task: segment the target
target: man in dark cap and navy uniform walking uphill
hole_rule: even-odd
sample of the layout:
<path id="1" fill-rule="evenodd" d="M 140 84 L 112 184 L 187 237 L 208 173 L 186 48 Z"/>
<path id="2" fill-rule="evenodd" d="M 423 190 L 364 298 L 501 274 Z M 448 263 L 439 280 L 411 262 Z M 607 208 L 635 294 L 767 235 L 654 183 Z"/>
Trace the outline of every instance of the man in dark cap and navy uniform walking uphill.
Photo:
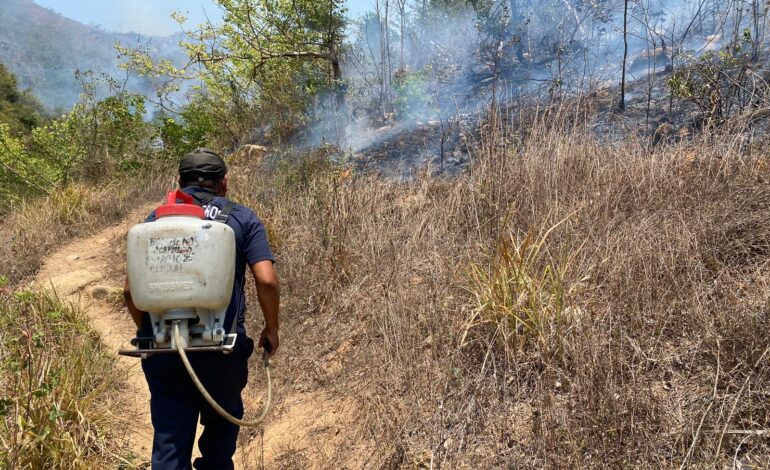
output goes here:
<path id="1" fill-rule="evenodd" d="M 179 163 L 179 186 L 204 208 L 206 218 L 226 223 L 235 232 L 235 281 L 224 328 L 235 327 L 238 339 L 232 354 L 196 352 L 190 362 L 204 387 L 228 413 L 243 417 L 241 391 L 248 380 L 248 358 L 254 341 L 246 335 L 246 268 L 257 286 L 265 328 L 259 338 L 272 356 L 278 350 L 279 287 L 265 227 L 253 211 L 228 200 L 227 166 L 215 152 L 199 148 Z M 155 212 L 147 222 L 155 220 Z M 139 311 L 131 299 L 128 282 L 124 291 L 126 306 L 139 328 L 139 337 L 152 336 L 149 315 Z M 155 354 L 142 360 L 150 388 L 150 411 L 154 428 L 153 470 L 190 469 L 198 419 L 203 433 L 198 440 L 201 457 L 196 469 L 232 469 L 239 427 L 222 418 L 198 392 L 177 354 Z"/>

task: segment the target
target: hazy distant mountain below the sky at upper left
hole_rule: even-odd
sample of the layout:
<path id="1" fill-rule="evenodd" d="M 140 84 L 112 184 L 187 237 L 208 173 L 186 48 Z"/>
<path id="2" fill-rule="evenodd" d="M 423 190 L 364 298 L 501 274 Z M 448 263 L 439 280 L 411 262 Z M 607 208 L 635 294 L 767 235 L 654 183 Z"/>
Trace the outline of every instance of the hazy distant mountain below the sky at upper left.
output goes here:
<path id="1" fill-rule="evenodd" d="M 181 64 L 186 56 L 178 46 L 181 33 L 149 37 L 112 33 L 65 18 L 32 0 L 0 0 L 0 62 L 49 109 L 68 110 L 82 88 L 75 71 L 92 70 L 124 79 L 114 44 L 149 45 L 156 57 Z M 129 77 L 128 89 L 152 95 L 150 82 Z"/>

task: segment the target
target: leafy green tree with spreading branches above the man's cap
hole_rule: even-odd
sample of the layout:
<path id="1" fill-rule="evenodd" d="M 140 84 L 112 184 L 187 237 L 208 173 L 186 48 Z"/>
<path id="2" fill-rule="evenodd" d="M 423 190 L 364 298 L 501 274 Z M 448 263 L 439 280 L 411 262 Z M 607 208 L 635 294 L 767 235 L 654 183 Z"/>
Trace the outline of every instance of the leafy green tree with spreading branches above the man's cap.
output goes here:
<path id="1" fill-rule="evenodd" d="M 147 51 L 119 48 L 127 65 L 146 75 L 201 79 L 212 113 L 228 110 L 227 121 L 248 123 L 247 128 L 267 125 L 277 136 L 304 124 L 308 106 L 322 93 L 334 93 L 342 104 L 342 0 L 217 3 L 223 23 L 200 25 L 187 34 L 187 67 L 176 69 L 153 62 Z M 242 136 L 232 137 L 228 145 Z"/>

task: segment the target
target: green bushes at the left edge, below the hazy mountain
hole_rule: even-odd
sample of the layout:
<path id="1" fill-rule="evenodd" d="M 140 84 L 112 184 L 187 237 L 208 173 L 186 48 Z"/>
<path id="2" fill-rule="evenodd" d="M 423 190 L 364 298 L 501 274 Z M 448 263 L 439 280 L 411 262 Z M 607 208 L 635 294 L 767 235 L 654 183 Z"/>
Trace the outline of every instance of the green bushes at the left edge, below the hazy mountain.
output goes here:
<path id="1" fill-rule="evenodd" d="M 84 98 L 70 113 L 28 136 L 0 122 L 0 196 L 24 201 L 70 184 L 101 182 L 153 160 L 144 98 L 119 94 Z"/>

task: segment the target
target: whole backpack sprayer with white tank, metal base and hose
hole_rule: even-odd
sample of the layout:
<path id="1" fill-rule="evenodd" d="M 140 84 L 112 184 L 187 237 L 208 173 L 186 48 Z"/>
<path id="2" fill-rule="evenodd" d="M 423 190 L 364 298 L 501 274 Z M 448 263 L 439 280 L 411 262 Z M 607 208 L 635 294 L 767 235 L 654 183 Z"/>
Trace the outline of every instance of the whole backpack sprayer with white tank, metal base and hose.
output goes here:
<path id="1" fill-rule="evenodd" d="M 146 358 L 178 353 L 212 408 L 233 424 L 257 426 L 267 416 L 273 398 L 267 349 L 263 354 L 267 399 L 254 421 L 242 421 L 219 406 L 187 358 L 187 353 L 202 351 L 233 352 L 236 321 L 233 319 L 229 332 L 224 322 L 235 278 L 235 232 L 222 219 L 205 220 L 203 208 L 181 190 L 168 193 L 166 204 L 155 215 L 155 222 L 129 230 L 127 250 L 131 297 L 139 310 L 149 313 L 153 336 L 134 338 L 135 349 L 118 354 Z"/>

